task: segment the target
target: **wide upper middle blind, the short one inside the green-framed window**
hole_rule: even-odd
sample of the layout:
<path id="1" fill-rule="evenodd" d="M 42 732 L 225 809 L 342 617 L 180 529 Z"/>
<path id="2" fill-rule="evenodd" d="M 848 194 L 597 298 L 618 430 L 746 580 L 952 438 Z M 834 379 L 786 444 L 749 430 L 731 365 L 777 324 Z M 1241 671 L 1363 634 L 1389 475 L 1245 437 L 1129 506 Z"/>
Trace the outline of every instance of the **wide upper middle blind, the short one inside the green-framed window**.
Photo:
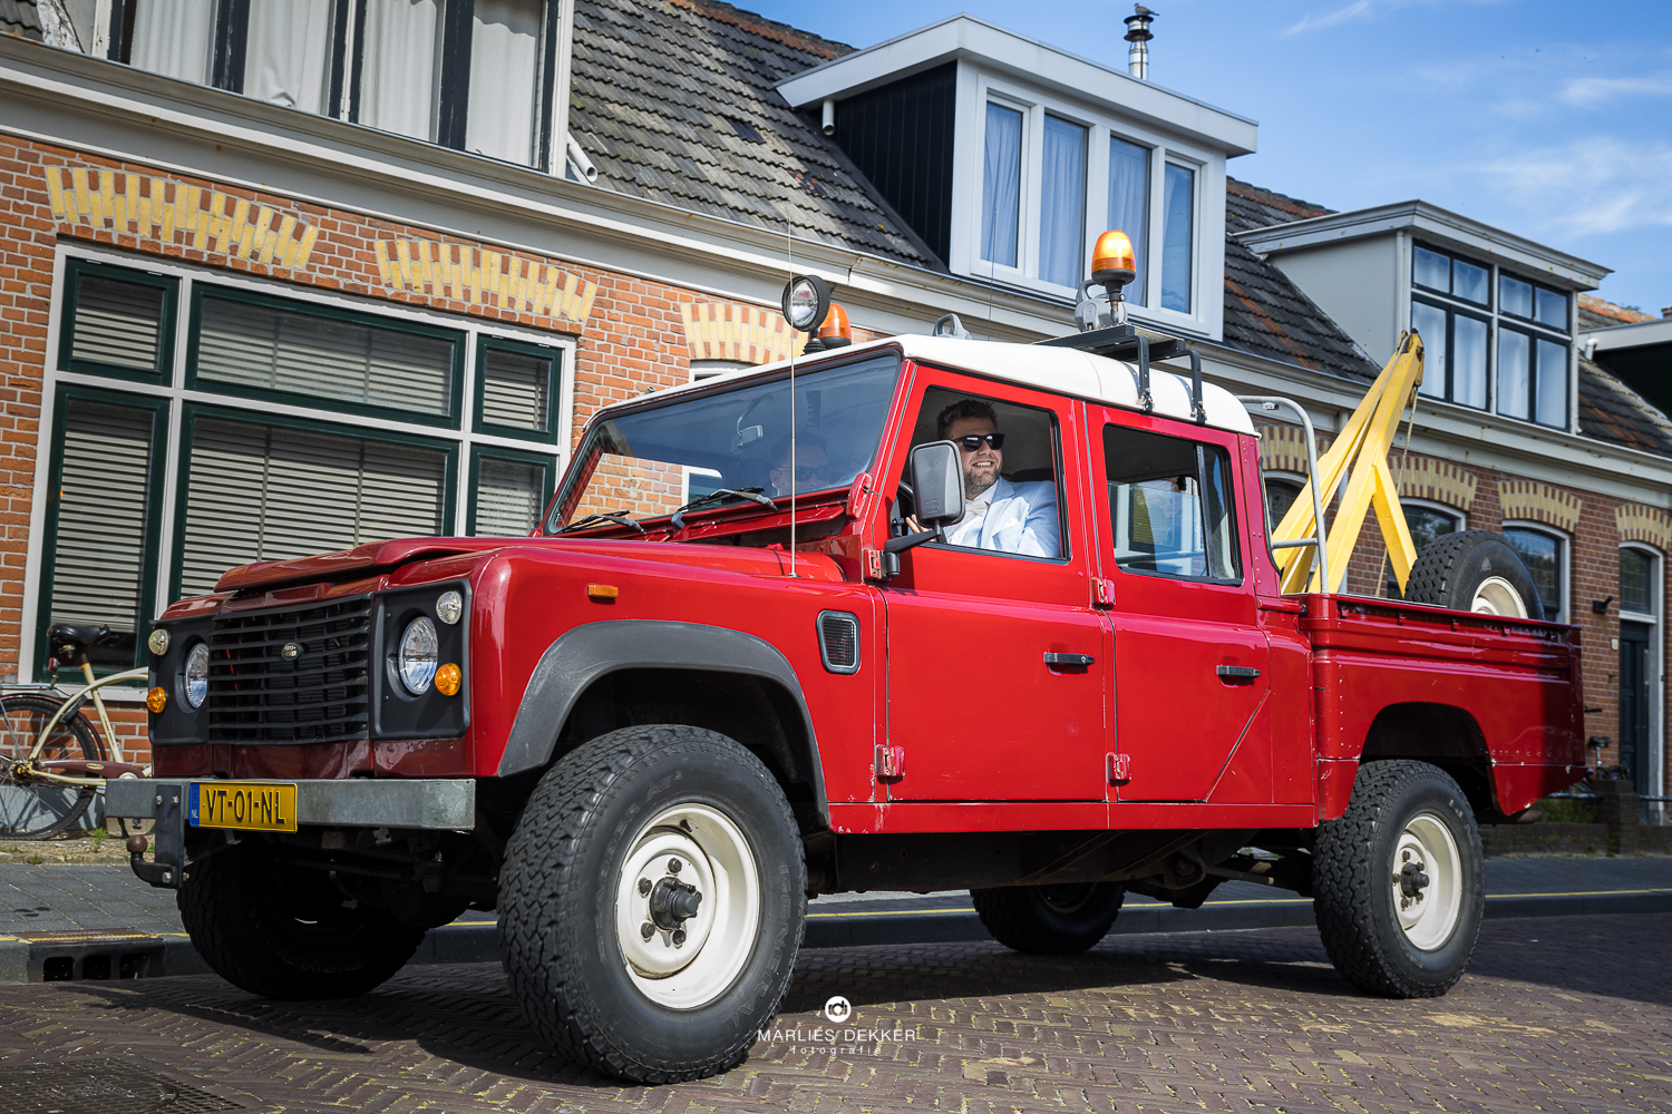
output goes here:
<path id="1" fill-rule="evenodd" d="M 197 377 L 368 406 L 446 414 L 455 339 L 202 299 Z"/>

